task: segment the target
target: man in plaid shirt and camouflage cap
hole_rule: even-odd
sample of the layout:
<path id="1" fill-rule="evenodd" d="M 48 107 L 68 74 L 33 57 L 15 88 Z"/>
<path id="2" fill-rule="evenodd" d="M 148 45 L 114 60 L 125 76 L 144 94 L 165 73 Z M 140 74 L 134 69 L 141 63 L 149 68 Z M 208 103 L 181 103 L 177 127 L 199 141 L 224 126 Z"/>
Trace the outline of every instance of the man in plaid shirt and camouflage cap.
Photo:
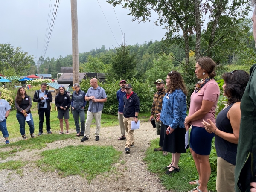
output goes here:
<path id="1" fill-rule="evenodd" d="M 154 93 L 153 97 L 153 103 L 151 108 L 151 116 L 149 120 L 151 121 L 156 117 L 158 113 L 161 113 L 162 110 L 162 104 L 163 104 L 163 97 L 166 95 L 167 90 L 164 87 L 164 81 L 162 79 L 157 79 L 154 84 L 157 87 L 157 92 Z M 160 128 L 161 128 L 161 121 L 156 120 L 156 129 L 157 129 L 157 135 L 160 135 Z M 154 151 L 162 151 L 162 147 L 155 148 Z M 168 152 L 163 151 L 163 155 L 167 155 Z"/>

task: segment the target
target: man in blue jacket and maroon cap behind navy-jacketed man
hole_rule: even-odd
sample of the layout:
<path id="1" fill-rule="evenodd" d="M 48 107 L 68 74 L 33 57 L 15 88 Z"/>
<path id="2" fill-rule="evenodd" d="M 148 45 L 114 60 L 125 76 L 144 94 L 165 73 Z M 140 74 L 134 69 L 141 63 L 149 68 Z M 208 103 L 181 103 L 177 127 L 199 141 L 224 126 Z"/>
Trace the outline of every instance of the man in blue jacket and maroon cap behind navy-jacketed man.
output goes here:
<path id="1" fill-rule="evenodd" d="M 124 96 L 126 94 L 125 92 L 125 85 L 126 85 L 126 81 L 125 80 L 121 80 L 120 81 L 120 89 L 116 92 L 116 98 L 118 101 L 118 111 L 117 111 L 117 116 L 118 116 L 118 121 L 119 121 L 119 126 L 120 126 L 120 130 L 121 130 L 121 137 L 118 137 L 118 140 L 125 140 L 125 125 L 124 125 Z"/>

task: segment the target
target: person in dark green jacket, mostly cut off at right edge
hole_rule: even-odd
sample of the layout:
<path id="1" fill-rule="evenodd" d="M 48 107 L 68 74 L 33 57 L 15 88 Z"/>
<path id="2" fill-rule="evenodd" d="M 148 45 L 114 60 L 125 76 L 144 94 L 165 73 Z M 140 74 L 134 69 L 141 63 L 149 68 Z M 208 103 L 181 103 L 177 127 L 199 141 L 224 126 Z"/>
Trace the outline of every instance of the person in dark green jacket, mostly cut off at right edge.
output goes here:
<path id="1" fill-rule="evenodd" d="M 256 0 L 252 0 L 252 6 L 254 7 L 253 37 L 256 42 Z M 250 79 L 241 99 L 240 109 L 235 190 L 236 192 L 256 192 L 256 64 L 250 68 Z"/>

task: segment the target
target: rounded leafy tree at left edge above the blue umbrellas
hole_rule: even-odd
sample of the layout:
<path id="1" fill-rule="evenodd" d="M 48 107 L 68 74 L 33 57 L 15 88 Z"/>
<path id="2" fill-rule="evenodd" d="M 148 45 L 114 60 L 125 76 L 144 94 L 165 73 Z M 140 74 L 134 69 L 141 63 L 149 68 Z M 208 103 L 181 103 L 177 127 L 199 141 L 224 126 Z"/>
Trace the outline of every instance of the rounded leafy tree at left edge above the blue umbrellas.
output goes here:
<path id="1" fill-rule="evenodd" d="M 33 62 L 33 57 L 28 52 L 23 52 L 21 47 L 0 44 L 0 73 L 5 74 L 6 70 L 10 70 L 22 75 Z"/>

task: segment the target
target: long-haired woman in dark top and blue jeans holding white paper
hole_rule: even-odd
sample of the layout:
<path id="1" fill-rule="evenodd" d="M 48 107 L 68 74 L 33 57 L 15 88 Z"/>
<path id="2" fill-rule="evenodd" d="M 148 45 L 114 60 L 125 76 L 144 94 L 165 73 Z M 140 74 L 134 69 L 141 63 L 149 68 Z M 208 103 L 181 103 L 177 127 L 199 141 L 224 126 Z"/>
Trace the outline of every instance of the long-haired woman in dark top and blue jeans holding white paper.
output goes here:
<path id="1" fill-rule="evenodd" d="M 20 124 L 20 134 L 22 135 L 23 140 L 27 140 L 25 133 L 25 122 L 27 122 L 27 124 L 29 125 L 29 132 L 31 138 L 35 138 L 34 121 L 30 111 L 31 107 L 32 99 L 26 94 L 25 89 L 23 87 L 20 87 L 15 97 L 15 108 L 17 109 L 16 118 Z"/>

